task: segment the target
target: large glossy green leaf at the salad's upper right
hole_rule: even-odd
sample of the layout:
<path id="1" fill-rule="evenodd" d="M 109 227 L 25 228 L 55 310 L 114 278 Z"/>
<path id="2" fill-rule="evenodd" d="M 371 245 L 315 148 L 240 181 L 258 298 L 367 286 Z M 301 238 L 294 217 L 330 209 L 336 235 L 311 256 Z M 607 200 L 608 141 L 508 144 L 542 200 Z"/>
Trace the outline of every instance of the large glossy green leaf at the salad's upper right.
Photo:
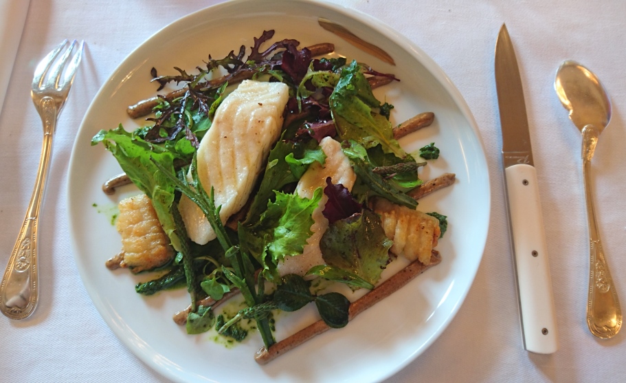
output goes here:
<path id="1" fill-rule="evenodd" d="M 355 140 L 366 149 L 380 144 L 385 153 L 405 157 L 405 151 L 393 137 L 391 123 L 384 116 L 372 113 L 372 108 L 377 109 L 381 104 L 372 94 L 372 88 L 356 61 L 342 69 L 329 101 L 342 140 Z"/>

